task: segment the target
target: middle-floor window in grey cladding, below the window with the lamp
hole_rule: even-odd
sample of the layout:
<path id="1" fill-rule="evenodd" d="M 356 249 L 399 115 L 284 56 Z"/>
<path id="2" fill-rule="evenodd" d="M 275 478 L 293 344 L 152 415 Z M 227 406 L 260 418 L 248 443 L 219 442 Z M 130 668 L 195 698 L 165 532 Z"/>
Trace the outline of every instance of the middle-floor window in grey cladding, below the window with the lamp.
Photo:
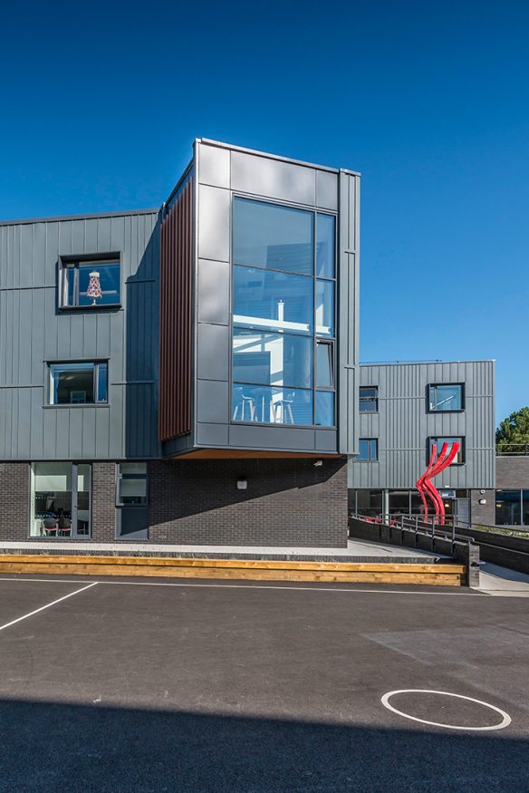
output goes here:
<path id="1" fill-rule="evenodd" d="M 51 363 L 51 405 L 94 405 L 109 401 L 108 363 Z"/>

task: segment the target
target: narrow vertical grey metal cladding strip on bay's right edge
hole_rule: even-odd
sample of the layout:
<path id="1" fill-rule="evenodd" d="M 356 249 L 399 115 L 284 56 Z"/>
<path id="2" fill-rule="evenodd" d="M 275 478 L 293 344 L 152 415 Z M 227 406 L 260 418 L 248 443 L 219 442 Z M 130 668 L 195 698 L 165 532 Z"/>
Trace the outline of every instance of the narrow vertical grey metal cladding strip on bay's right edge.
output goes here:
<path id="1" fill-rule="evenodd" d="M 360 178 L 340 173 L 338 232 L 338 450 L 353 454 L 358 440 Z"/>

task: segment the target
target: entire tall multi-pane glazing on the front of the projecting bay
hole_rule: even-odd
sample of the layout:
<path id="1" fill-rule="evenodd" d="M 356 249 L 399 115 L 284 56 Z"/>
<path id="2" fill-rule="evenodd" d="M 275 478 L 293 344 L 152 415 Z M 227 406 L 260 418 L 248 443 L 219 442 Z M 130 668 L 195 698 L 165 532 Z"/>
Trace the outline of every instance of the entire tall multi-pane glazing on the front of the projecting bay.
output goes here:
<path id="1" fill-rule="evenodd" d="M 335 226 L 234 198 L 232 421 L 334 426 Z"/>

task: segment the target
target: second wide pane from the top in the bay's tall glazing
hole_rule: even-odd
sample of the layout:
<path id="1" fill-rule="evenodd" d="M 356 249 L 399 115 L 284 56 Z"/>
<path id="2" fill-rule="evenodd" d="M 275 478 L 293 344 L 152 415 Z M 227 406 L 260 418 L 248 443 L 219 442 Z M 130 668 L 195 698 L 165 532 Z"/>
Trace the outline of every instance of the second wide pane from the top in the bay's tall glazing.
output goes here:
<path id="1" fill-rule="evenodd" d="M 313 280 L 251 267 L 234 268 L 234 324 L 309 334 L 313 330 Z"/>

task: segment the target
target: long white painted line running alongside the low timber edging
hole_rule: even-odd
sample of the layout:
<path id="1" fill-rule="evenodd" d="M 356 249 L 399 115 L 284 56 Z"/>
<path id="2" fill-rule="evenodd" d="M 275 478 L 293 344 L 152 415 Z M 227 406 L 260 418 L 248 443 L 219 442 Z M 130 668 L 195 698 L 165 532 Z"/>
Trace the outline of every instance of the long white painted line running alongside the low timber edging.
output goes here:
<path id="1" fill-rule="evenodd" d="M 64 580 L 63 578 L 6 578 L 0 576 L 0 581 L 34 581 L 36 583 L 50 583 L 50 584 L 79 584 L 79 581 L 70 578 Z M 85 582 L 81 582 L 85 583 Z M 274 586 L 274 585 L 251 585 L 251 584 L 189 584 L 186 582 L 172 583 L 165 581 L 110 581 L 102 579 L 95 582 L 96 584 L 109 584 L 109 585 L 123 585 L 123 586 L 197 586 L 216 589 L 281 589 L 291 590 L 293 592 L 355 592 L 364 595 L 447 595 L 448 597 L 490 597 L 486 592 L 425 592 L 419 590 L 418 592 L 409 592 L 408 590 L 400 589 L 347 589 L 344 587 L 330 586 Z M 454 587 L 456 588 L 456 587 Z"/>

